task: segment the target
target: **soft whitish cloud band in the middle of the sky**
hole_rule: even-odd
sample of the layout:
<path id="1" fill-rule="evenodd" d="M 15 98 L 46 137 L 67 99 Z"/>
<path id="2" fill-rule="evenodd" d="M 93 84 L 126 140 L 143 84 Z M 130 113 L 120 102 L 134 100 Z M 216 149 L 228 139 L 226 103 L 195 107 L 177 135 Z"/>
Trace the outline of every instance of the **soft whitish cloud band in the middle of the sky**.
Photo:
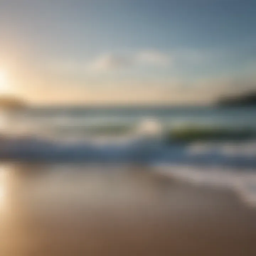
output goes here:
<path id="1" fill-rule="evenodd" d="M 139 67 L 170 67 L 181 68 L 201 66 L 213 59 L 216 54 L 209 54 L 207 50 L 175 49 L 161 51 L 158 49 L 141 49 L 138 51 L 119 54 L 108 53 L 98 55 L 87 63 L 89 71 L 113 71 Z"/>

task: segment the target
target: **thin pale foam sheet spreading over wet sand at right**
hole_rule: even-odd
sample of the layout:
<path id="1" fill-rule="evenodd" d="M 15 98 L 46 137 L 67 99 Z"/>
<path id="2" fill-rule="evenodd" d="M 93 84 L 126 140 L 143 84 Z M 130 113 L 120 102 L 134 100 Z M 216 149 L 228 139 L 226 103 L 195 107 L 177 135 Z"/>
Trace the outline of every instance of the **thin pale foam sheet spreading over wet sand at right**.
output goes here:
<path id="1" fill-rule="evenodd" d="M 155 170 L 194 185 L 234 190 L 244 203 L 256 207 L 256 169 L 238 171 L 223 167 L 157 165 Z"/>

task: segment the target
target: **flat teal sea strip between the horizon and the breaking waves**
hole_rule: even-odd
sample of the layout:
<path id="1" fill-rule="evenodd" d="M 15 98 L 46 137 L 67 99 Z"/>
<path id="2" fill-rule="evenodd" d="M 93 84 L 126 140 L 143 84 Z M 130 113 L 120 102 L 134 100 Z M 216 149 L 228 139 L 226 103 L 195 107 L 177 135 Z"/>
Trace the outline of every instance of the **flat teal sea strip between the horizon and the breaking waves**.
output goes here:
<path id="1" fill-rule="evenodd" d="M 256 107 L 41 107 L 30 108 L 26 117 L 38 127 L 55 129 L 59 134 L 69 130 L 108 132 L 100 127 L 126 126 L 132 129 L 145 119 L 156 119 L 167 128 L 182 126 L 222 126 L 228 128 L 256 129 Z M 123 129 L 129 132 L 129 129 Z M 115 131 L 113 131 L 114 133 Z"/>

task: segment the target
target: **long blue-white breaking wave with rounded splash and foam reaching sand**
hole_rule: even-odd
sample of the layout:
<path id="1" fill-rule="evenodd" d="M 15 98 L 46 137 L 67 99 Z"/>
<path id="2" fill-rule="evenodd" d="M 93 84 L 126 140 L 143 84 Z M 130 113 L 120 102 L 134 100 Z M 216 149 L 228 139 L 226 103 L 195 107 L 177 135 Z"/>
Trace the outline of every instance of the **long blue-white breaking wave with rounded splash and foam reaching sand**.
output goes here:
<path id="1" fill-rule="evenodd" d="M 143 163 L 156 173 L 196 185 L 229 188 L 256 206 L 256 140 L 177 142 L 147 119 L 123 137 L 69 141 L 37 136 L 2 138 L 0 158 L 18 161 Z"/>

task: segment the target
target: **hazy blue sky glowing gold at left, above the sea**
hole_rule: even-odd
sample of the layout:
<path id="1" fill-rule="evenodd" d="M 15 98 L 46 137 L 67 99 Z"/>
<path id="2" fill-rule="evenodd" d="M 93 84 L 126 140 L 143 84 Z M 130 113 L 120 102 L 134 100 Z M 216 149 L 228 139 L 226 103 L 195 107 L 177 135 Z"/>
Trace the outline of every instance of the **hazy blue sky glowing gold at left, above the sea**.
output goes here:
<path id="1" fill-rule="evenodd" d="M 204 104 L 256 89 L 255 26 L 253 0 L 0 0 L 0 73 L 35 104 Z"/>

